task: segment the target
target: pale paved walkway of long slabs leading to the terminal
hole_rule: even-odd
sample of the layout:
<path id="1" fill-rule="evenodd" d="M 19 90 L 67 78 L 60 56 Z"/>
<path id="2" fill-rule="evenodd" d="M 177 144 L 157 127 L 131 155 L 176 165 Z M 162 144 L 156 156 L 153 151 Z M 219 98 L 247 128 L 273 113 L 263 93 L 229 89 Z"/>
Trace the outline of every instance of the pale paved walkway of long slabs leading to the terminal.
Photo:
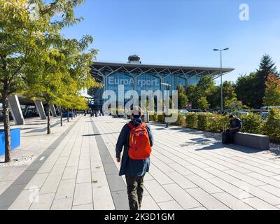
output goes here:
<path id="1" fill-rule="evenodd" d="M 34 162 L 0 168 L 0 209 L 128 209 L 115 159 L 125 122 L 80 116 L 50 136 L 36 132 L 42 127 L 23 131 L 13 155 L 35 154 Z M 280 209 L 277 151 L 225 148 L 216 134 L 164 126 L 151 124 L 143 209 Z"/>

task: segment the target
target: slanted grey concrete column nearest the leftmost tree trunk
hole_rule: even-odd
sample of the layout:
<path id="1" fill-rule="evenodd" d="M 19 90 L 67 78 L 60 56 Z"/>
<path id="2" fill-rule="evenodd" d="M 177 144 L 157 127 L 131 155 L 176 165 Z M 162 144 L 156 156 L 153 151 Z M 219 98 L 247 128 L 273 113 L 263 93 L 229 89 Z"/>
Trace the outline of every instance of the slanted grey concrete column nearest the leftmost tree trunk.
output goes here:
<path id="1" fill-rule="evenodd" d="M 20 102 L 18 101 L 17 95 L 10 95 L 8 97 L 8 104 L 10 108 L 10 113 L 12 113 L 15 125 L 24 125 L 25 119 L 22 115 L 22 109 L 20 108 Z"/>

